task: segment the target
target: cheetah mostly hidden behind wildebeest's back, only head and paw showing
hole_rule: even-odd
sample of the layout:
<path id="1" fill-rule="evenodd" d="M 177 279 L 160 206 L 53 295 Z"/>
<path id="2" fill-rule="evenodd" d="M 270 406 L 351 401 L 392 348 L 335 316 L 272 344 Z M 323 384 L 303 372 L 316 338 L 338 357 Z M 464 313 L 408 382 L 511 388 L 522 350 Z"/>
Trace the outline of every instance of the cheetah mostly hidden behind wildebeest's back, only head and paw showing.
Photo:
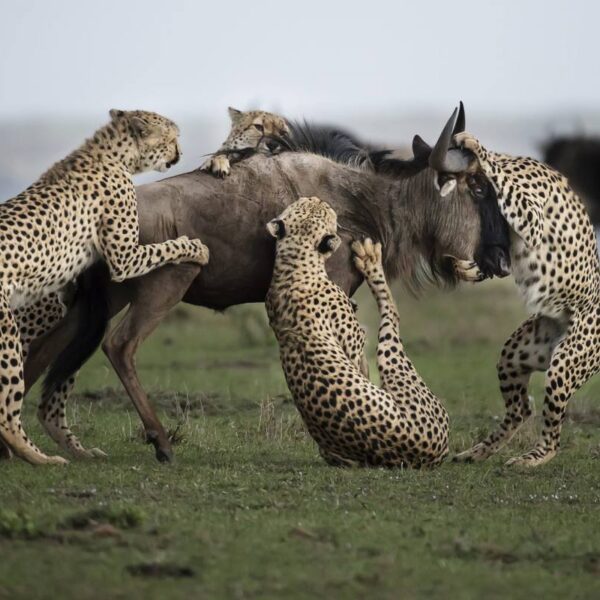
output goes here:
<path id="1" fill-rule="evenodd" d="M 271 140 L 285 138 L 289 126 L 283 117 L 263 110 L 241 111 L 231 106 L 227 109 L 231 130 L 221 147 L 200 167 L 217 177 L 226 177 L 231 164 L 249 152 L 271 152 Z"/>

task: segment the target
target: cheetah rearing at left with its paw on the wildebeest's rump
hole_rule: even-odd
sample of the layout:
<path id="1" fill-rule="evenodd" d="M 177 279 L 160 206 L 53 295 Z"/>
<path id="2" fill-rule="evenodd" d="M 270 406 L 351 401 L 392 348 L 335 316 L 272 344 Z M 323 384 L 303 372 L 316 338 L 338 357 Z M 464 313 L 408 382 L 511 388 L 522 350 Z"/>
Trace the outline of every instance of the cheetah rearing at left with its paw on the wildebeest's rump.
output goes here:
<path id="1" fill-rule="evenodd" d="M 0 438 L 27 462 L 67 462 L 41 452 L 20 418 L 23 360 L 31 339 L 62 317 L 59 290 L 99 259 L 115 281 L 167 263 L 208 261 L 200 240 L 139 244 L 132 175 L 175 164 L 178 135 L 175 123 L 156 113 L 111 110 L 91 139 L 0 205 Z M 44 424 L 56 439 L 68 427 L 64 407 L 51 412 Z"/>

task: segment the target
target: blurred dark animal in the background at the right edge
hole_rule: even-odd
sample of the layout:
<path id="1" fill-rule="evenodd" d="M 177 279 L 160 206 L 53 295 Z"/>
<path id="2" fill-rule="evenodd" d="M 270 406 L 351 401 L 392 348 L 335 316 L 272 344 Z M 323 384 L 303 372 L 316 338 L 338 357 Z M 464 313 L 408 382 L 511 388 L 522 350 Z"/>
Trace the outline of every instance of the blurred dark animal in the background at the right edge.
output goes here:
<path id="1" fill-rule="evenodd" d="M 565 175 L 600 226 L 600 138 L 556 137 L 542 146 L 544 162 Z"/>

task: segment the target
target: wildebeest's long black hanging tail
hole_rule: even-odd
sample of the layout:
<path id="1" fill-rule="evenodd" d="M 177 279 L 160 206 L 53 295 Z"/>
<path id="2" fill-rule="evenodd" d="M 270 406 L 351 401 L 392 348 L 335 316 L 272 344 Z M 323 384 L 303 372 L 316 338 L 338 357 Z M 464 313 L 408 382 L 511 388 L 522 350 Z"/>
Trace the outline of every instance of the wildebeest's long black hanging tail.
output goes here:
<path id="1" fill-rule="evenodd" d="M 78 310 L 75 335 L 48 369 L 43 383 L 44 398 L 50 397 L 77 373 L 102 343 L 110 321 L 109 281 L 110 273 L 104 261 L 94 263 L 77 279 L 72 305 Z"/>

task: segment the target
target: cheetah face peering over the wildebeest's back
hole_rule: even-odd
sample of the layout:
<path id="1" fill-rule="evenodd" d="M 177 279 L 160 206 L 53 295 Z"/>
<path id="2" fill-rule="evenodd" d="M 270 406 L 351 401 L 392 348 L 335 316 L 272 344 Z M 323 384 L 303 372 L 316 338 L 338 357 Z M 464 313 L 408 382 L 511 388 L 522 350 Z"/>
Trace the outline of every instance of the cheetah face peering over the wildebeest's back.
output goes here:
<path id="1" fill-rule="evenodd" d="M 289 135 L 285 119 L 262 110 L 241 111 L 228 108 L 231 119 L 230 150 L 272 151 L 272 140 Z"/>

